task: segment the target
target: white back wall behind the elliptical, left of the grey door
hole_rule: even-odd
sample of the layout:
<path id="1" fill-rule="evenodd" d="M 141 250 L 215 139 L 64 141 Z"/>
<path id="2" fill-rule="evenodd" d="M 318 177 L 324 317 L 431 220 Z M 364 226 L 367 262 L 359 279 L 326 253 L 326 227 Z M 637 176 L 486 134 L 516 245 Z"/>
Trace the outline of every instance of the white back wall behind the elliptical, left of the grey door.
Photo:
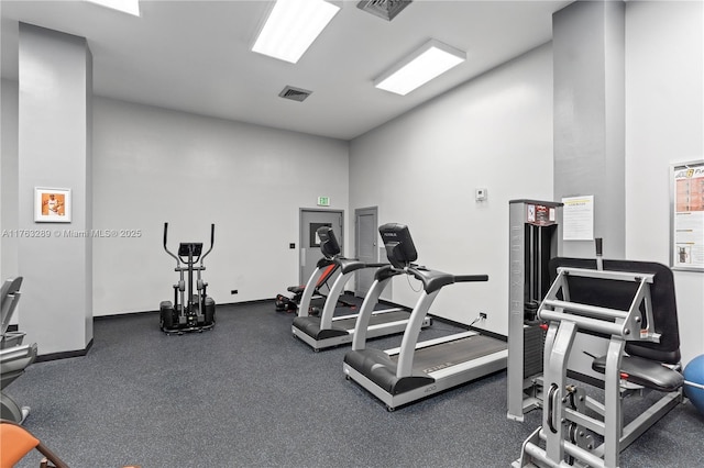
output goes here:
<path id="1" fill-rule="evenodd" d="M 172 299 L 162 247 L 216 244 L 205 279 L 217 302 L 273 298 L 298 282 L 298 213 L 329 194 L 348 207 L 348 143 L 105 98 L 94 101 L 95 315 Z M 238 296 L 230 290 L 238 289 Z"/>

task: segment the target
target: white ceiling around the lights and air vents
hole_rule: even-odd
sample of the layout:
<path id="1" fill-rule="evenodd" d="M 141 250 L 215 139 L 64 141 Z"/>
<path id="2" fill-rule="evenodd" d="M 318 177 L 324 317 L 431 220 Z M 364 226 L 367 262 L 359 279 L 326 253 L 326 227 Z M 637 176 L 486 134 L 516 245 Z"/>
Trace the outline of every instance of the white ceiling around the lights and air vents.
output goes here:
<path id="1" fill-rule="evenodd" d="M 552 36 L 571 1 L 416 0 L 388 22 L 344 1 L 297 64 L 250 52 L 270 1 L 142 1 L 142 16 L 84 1 L 0 1 L 2 77 L 16 80 L 18 22 L 84 36 L 94 92 L 296 132 L 351 140 Z M 373 87 L 429 38 L 468 60 L 402 97 Z M 304 102 L 285 86 L 311 90 Z"/>

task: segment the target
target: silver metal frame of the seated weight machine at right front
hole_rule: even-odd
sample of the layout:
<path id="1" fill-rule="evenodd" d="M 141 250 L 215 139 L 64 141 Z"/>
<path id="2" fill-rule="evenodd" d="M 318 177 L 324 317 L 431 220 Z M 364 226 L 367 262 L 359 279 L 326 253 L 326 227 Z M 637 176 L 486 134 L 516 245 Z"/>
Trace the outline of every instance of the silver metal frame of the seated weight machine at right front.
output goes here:
<path id="1" fill-rule="evenodd" d="M 635 268 L 638 263 L 622 264 Z M 597 265 L 601 266 L 601 261 Z M 659 275 L 664 275 L 662 271 L 666 271 L 667 267 L 645 265 L 646 268 L 636 271 L 565 266 L 557 268 L 558 276 L 538 310 L 540 320 L 550 323 L 546 337 L 546 368 L 542 379 L 542 426 L 526 439 L 521 447 L 521 457 L 514 464 L 515 467 L 618 467 L 620 452 L 682 401 L 683 378 L 676 370 L 678 365 L 668 368 L 660 361 L 638 357 L 634 354 L 636 349 L 632 347 L 630 356 L 625 356 L 628 343 L 661 343 L 661 334 L 656 331 L 658 316 L 653 313 L 651 298 L 651 286 L 658 274 L 645 271 L 652 268 L 660 271 Z M 604 285 L 598 286 L 600 288 L 609 288 L 610 285 L 605 282 L 632 283 L 635 293 L 628 296 L 618 292 L 619 303 L 629 303 L 625 310 L 587 303 L 584 298 L 588 294 L 582 294 L 581 302 L 575 302 L 569 287 L 573 278 L 587 279 L 592 288 L 590 294 L 593 294 L 590 297 L 594 298 L 594 301 L 598 299 L 604 302 L 605 294 L 610 293 L 614 288 L 623 290 L 619 285 L 610 290 L 602 291 L 597 288 L 597 285 Z M 672 296 L 673 303 L 674 291 L 668 293 Z M 676 324 L 676 309 L 666 312 L 674 314 L 670 315 L 670 320 L 674 320 Z M 579 331 L 610 337 L 604 366 L 604 402 L 587 395 L 578 385 L 568 381 L 568 359 Z M 668 352 L 679 359 L 679 338 L 675 346 L 675 353 L 671 349 Z M 648 353 L 652 354 L 651 348 L 648 349 Z M 652 379 L 653 383 L 649 383 L 649 374 L 657 376 Z M 637 381 L 638 385 L 631 383 L 632 381 Z M 639 416 L 626 423 L 622 412 L 622 398 L 628 388 L 650 388 L 664 391 L 666 394 Z M 541 445 L 544 445 L 544 448 Z M 572 463 L 565 461 L 565 457 Z"/>

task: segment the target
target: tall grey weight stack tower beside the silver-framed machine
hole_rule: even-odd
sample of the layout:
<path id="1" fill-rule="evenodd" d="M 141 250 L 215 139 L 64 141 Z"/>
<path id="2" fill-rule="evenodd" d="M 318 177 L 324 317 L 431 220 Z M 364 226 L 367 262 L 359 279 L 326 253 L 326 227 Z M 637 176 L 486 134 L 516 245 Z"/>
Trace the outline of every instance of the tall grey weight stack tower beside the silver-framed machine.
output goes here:
<path id="1" fill-rule="evenodd" d="M 509 201 L 508 419 L 541 405 L 544 332 L 536 313 L 550 288 L 548 263 L 562 254 L 562 203 Z"/>

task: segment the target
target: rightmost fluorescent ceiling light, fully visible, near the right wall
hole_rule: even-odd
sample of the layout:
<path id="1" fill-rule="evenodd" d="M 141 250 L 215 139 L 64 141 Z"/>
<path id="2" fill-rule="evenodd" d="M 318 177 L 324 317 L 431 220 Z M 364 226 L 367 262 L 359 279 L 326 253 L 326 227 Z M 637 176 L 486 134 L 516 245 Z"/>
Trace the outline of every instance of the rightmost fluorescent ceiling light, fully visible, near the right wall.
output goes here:
<path id="1" fill-rule="evenodd" d="M 466 53 L 430 40 L 374 80 L 374 86 L 406 96 L 466 59 Z"/>

